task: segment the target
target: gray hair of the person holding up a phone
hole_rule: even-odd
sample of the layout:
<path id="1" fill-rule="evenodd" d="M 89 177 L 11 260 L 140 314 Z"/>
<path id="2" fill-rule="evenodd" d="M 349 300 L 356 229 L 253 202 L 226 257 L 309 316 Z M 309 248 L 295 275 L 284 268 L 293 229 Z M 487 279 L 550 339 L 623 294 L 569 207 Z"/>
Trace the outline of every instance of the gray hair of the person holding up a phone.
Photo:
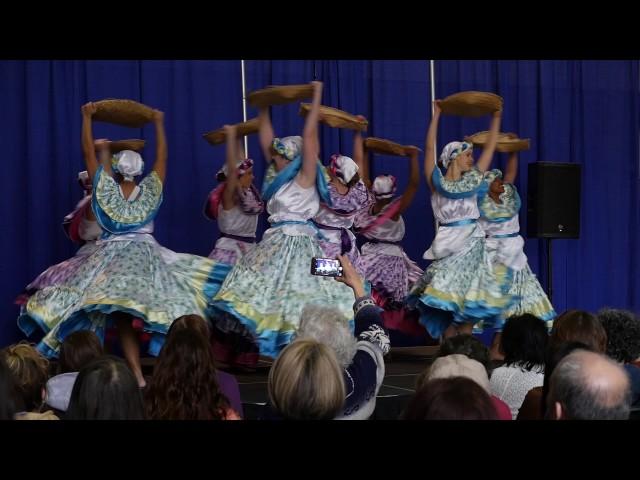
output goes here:
<path id="1" fill-rule="evenodd" d="M 342 367 L 347 367 L 357 350 L 357 341 L 349 330 L 348 320 L 335 307 L 305 305 L 296 339 L 310 338 L 331 347 Z"/>

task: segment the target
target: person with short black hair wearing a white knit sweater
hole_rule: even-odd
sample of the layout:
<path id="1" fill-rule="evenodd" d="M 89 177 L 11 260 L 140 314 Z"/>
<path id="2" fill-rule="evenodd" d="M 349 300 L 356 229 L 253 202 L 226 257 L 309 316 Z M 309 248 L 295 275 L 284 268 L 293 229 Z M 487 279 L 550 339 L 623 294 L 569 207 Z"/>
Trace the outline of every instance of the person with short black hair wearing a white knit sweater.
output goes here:
<path id="1" fill-rule="evenodd" d="M 515 419 L 527 392 L 542 386 L 547 326 L 525 313 L 509 318 L 502 331 L 500 350 L 505 364 L 491 374 L 491 393 L 509 405 Z"/>

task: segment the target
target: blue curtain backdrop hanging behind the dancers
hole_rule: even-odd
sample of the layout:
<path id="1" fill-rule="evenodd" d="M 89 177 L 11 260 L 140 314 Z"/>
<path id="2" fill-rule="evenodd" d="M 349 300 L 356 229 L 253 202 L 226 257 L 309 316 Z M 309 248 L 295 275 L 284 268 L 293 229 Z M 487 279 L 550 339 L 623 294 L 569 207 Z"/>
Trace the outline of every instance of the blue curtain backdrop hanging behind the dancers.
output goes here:
<path id="1" fill-rule="evenodd" d="M 424 148 L 431 117 L 427 60 L 248 60 L 245 66 L 248 92 L 269 84 L 322 80 L 323 102 L 365 115 L 368 135 Z M 640 310 L 638 61 L 436 61 L 434 80 L 437 98 L 461 90 L 503 96 L 503 130 L 532 139 L 516 182 L 525 202 L 523 231 L 527 163 L 582 165 L 580 239 L 554 241 L 557 310 L 605 305 Z M 201 211 L 215 186 L 224 147 L 209 146 L 202 134 L 242 119 L 239 60 L 0 61 L 0 346 L 21 338 L 15 296 L 47 266 L 74 253 L 60 222 L 81 196 L 75 180 L 84 169 L 80 106 L 108 97 L 138 100 L 166 114 L 169 170 L 156 222 L 158 241 L 176 251 L 207 255 L 217 238 L 215 224 Z M 278 135 L 300 134 L 297 105 L 272 111 Z M 249 107 L 247 113 L 257 112 Z M 488 125 L 488 118 L 443 117 L 438 147 Z M 94 134 L 147 140 L 143 156 L 149 171 L 153 127 L 97 123 Z M 335 152 L 351 155 L 351 132 L 322 127 L 321 136 L 324 161 Z M 264 162 L 255 136 L 249 155 L 256 160 L 260 183 Z M 504 160 L 497 156 L 494 165 L 501 168 Z M 381 173 L 396 175 L 401 190 L 407 160 L 374 156 L 372 175 Z M 434 231 L 422 179 L 405 220 L 405 249 L 425 267 L 422 253 Z M 526 253 L 545 284 L 543 242 L 527 239 Z"/>

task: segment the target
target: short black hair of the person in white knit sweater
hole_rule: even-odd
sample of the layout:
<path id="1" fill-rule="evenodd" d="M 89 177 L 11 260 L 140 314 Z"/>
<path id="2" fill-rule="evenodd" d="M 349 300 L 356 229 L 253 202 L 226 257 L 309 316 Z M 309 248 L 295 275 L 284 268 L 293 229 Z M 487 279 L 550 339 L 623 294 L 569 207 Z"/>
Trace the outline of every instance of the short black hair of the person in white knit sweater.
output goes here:
<path id="1" fill-rule="evenodd" d="M 500 339 L 505 364 L 542 371 L 547 342 L 547 326 L 538 317 L 530 313 L 510 317 Z"/>

